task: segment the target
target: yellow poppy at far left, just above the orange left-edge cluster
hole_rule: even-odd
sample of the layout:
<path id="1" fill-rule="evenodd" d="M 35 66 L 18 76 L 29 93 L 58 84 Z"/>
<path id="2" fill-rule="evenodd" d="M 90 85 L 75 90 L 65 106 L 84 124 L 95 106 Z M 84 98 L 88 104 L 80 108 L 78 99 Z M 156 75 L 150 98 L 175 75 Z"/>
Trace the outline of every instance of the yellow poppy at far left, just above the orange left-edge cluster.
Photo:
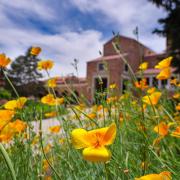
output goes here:
<path id="1" fill-rule="evenodd" d="M 22 109 L 24 104 L 26 103 L 26 97 L 20 97 L 17 100 L 8 101 L 4 104 L 5 109 L 15 110 L 15 109 Z"/>

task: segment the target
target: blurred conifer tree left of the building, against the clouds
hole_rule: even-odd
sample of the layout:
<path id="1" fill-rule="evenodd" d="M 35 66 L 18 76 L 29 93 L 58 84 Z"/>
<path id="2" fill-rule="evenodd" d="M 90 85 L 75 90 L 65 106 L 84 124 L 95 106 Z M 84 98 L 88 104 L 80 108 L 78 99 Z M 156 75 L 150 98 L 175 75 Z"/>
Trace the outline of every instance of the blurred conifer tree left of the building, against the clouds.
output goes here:
<path id="1" fill-rule="evenodd" d="M 29 83 L 37 83 L 42 74 L 37 70 L 37 63 L 40 59 L 30 54 L 31 47 L 25 55 L 18 56 L 11 64 L 8 76 L 16 86 L 22 86 Z"/>

